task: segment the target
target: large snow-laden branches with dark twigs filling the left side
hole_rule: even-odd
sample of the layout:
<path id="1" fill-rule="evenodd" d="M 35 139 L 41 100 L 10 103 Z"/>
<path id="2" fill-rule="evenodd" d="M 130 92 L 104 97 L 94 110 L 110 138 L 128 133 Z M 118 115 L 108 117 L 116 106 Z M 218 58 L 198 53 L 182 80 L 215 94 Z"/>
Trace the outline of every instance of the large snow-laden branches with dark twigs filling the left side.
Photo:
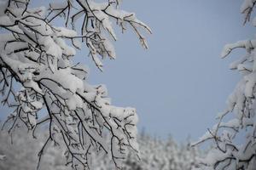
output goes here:
<path id="1" fill-rule="evenodd" d="M 63 27 L 54 25 L 60 17 Z M 24 124 L 36 137 L 37 128 L 47 124 L 49 137 L 38 153 L 39 161 L 51 143 L 60 144 L 57 136 L 67 149 L 67 163 L 76 169 L 90 167 L 93 148 L 109 154 L 117 168 L 126 150 L 138 152 L 135 109 L 111 105 L 106 87 L 90 85 L 87 67 L 72 61 L 75 48 L 82 44 L 101 71 L 100 57 L 115 58 L 112 20 L 122 31 L 130 25 L 148 47 L 139 28 L 151 33 L 149 27 L 119 9 L 118 0 L 54 1 L 48 9 L 32 8 L 29 0 L 1 1 L 0 92 L 3 105 L 14 108 L 5 126 L 12 133 Z M 105 141 L 104 133 L 109 133 L 110 141 Z"/>

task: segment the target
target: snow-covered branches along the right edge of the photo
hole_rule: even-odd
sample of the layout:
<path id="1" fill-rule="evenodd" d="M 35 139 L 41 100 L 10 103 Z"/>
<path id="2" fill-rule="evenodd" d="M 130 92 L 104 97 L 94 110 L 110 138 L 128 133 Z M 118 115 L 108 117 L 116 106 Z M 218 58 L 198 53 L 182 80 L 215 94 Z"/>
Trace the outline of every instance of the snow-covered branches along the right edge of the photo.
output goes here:
<path id="1" fill-rule="evenodd" d="M 255 3 L 255 0 L 244 0 L 242 3 L 241 13 L 245 16 L 245 23 L 250 20 Z M 256 26 L 255 21 L 254 18 L 253 26 Z M 230 69 L 241 73 L 241 81 L 230 94 L 226 110 L 218 115 L 218 123 L 195 143 L 211 140 L 214 144 L 207 156 L 200 159 L 200 169 L 256 168 L 256 40 L 227 44 L 221 57 L 228 56 L 235 48 L 246 50 L 244 56 L 230 65 Z M 224 118 L 228 115 L 232 118 L 226 122 Z"/>

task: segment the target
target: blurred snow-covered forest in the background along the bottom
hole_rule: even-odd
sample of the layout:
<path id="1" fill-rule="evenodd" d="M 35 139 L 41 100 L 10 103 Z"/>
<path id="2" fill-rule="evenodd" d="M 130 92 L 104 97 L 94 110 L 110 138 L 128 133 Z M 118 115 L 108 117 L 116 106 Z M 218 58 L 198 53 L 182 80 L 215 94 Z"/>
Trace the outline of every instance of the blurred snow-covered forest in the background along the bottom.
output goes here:
<path id="1" fill-rule="evenodd" d="M 0 133 L 0 153 L 6 154 L 5 161 L 0 161 L 0 169 L 34 170 L 37 166 L 37 152 L 47 139 L 47 131 L 38 132 L 38 139 L 26 138 L 25 130 L 19 130 L 12 137 L 8 133 Z M 106 139 L 109 136 L 105 137 Z M 9 140 L 13 140 L 13 144 Z M 123 161 L 124 170 L 191 170 L 195 167 L 195 158 L 200 156 L 199 150 L 187 144 L 177 144 L 174 139 L 155 139 L 148 135 L 138 135 L 141 150 L 141 161 L 137 155 L 129 151 L 127 159 Z M 46 150 L 41 162 L 42 170 L 71 170 L 65 166 L 65 150 L 59 145 L 53 145 Z M 94 170 L 115 169 L 112 158 L 108 154 L 91 150 L 90 167 Z"/>

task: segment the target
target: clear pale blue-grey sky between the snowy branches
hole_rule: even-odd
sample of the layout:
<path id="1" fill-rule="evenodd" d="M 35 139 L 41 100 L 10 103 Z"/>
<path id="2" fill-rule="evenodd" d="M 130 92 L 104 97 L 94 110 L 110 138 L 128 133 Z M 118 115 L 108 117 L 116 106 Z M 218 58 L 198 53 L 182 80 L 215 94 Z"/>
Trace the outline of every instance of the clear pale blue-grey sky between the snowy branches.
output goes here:
<path id="1" fill-rule="evenodd" d="M 253 26 L 242 26 L 241 3 L 124 0 L 122 8 L 152 28 L 149 49 L 141 48 L 130 30 L 118 34 L 117 59 L 105 60 L 103 73 L 87 51 L 78 57 L 90 65 L 90 83 L 107 85 L 113 105 L 137 108 L 139 129 L 162 138 L 198 139 L 216 123 L 239 80 L 229 64 L 243 53 L 220 59 L 224 44 L 254 37 Z"/>

